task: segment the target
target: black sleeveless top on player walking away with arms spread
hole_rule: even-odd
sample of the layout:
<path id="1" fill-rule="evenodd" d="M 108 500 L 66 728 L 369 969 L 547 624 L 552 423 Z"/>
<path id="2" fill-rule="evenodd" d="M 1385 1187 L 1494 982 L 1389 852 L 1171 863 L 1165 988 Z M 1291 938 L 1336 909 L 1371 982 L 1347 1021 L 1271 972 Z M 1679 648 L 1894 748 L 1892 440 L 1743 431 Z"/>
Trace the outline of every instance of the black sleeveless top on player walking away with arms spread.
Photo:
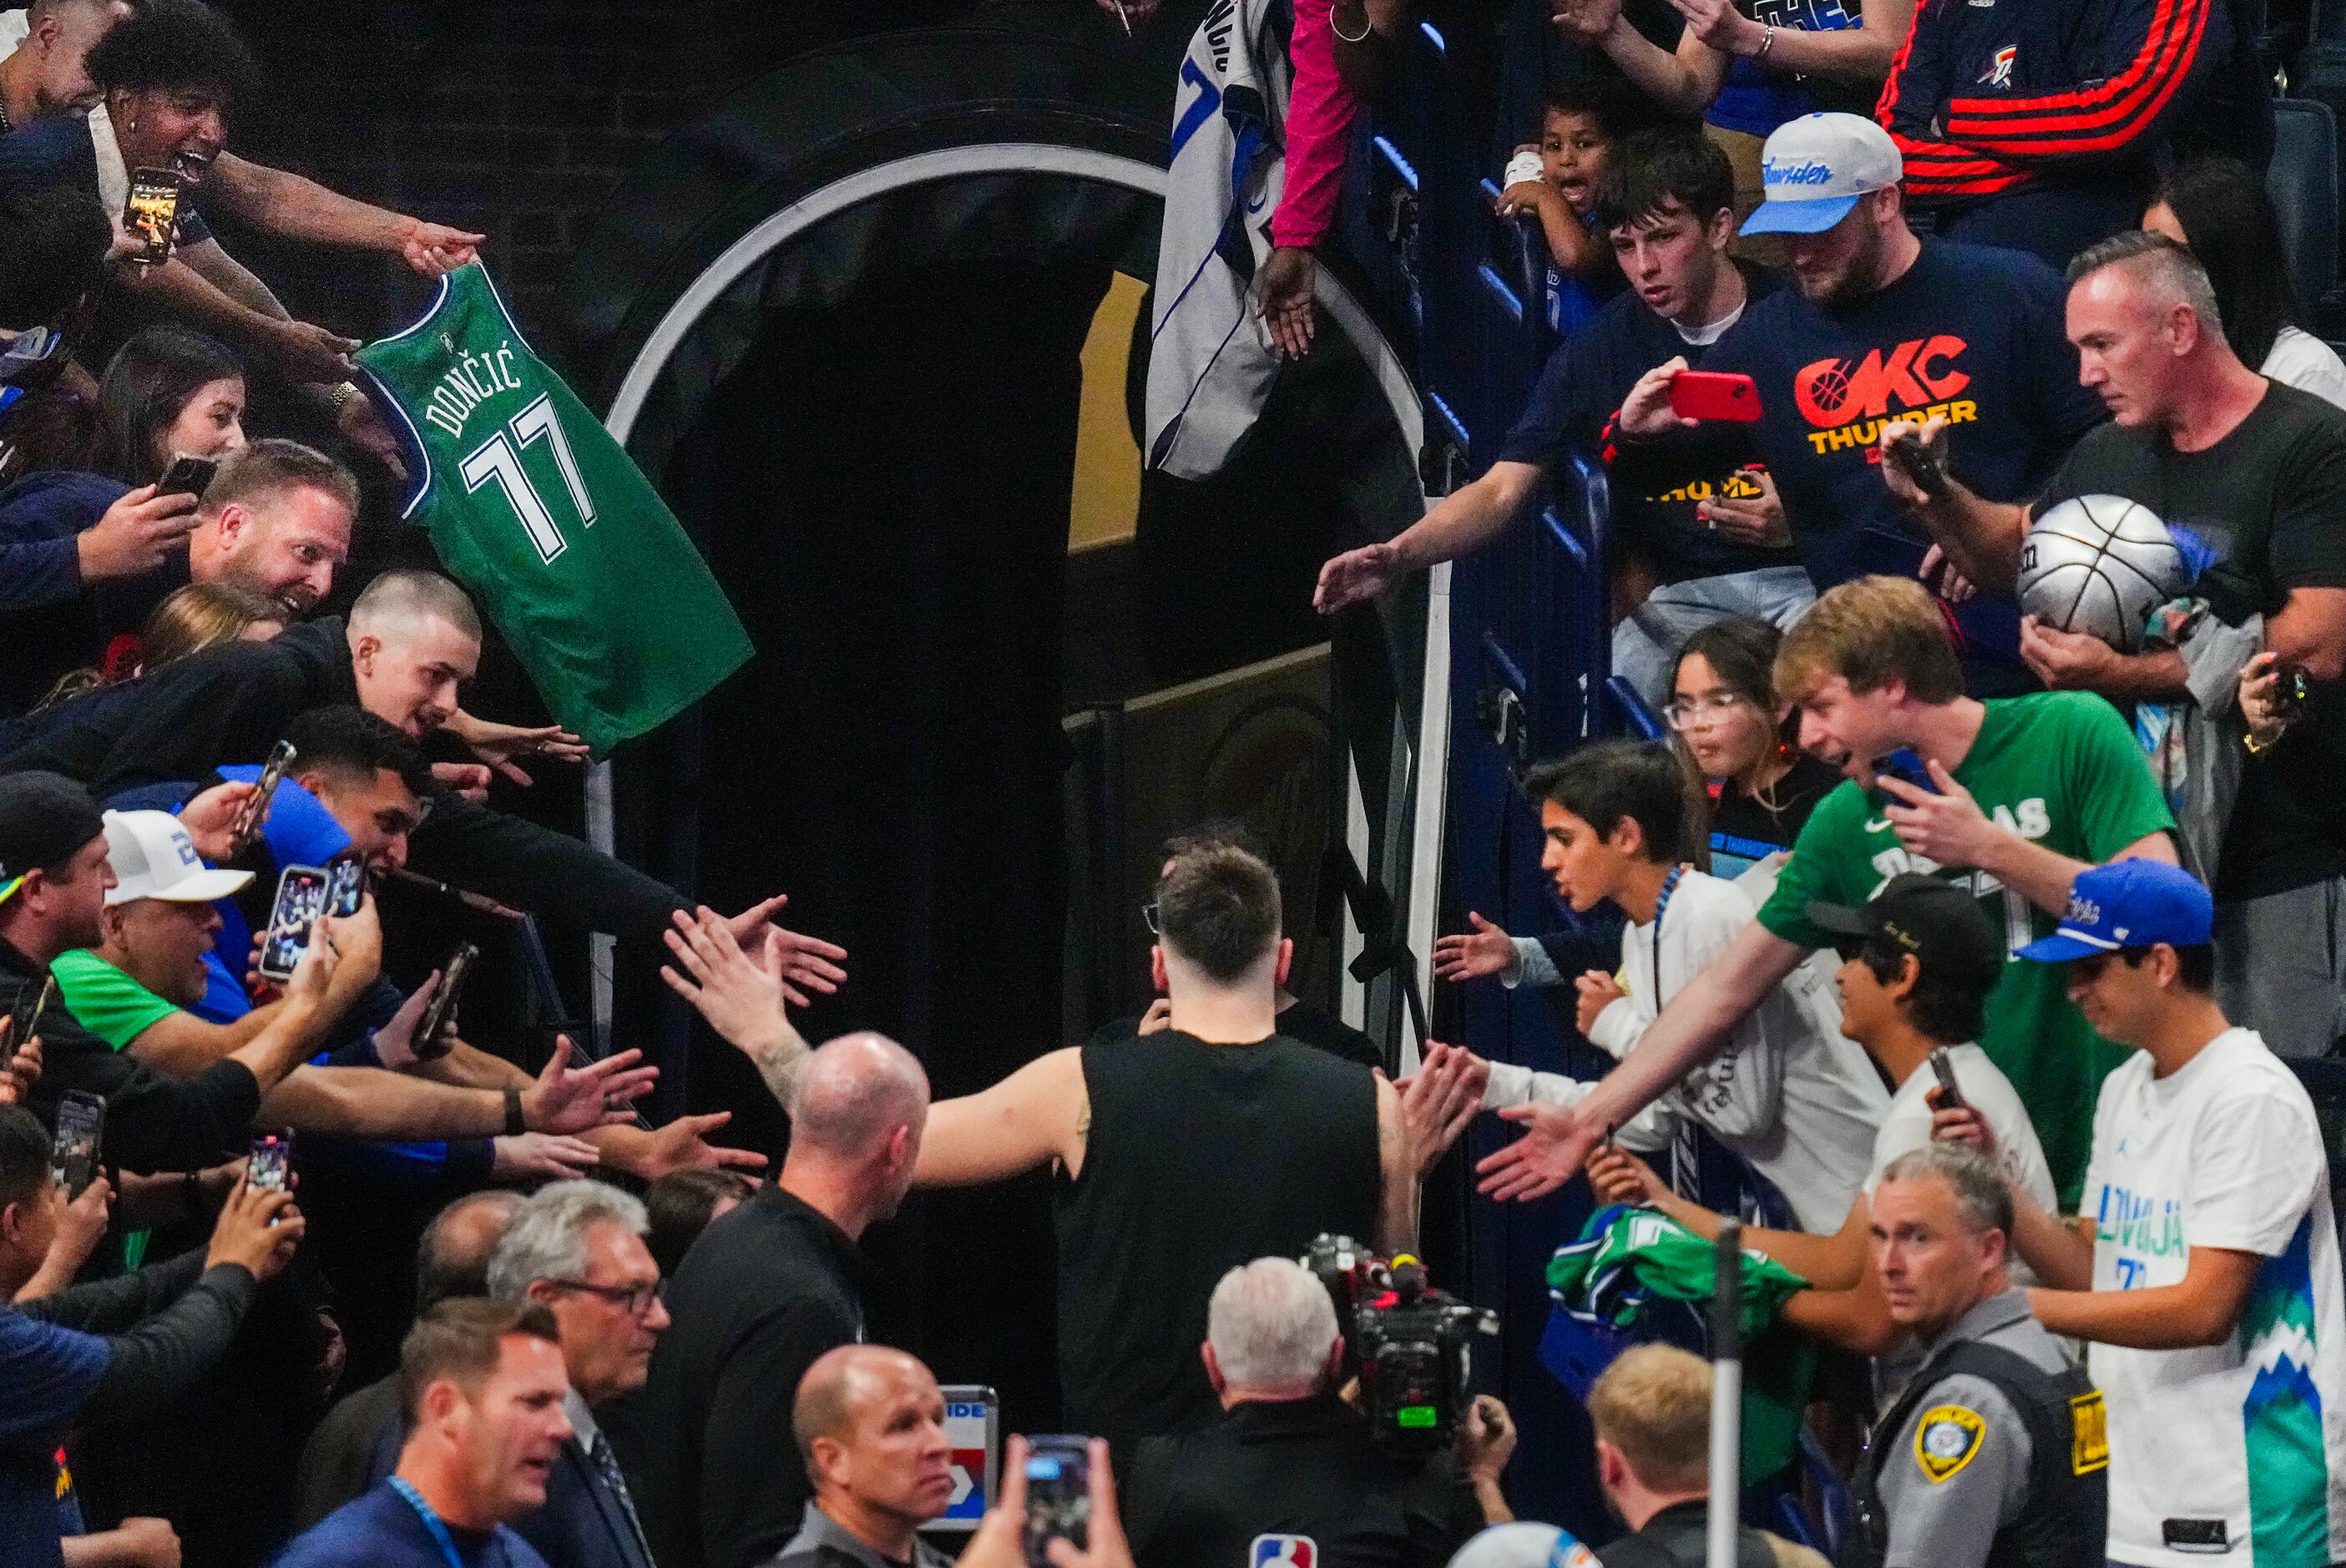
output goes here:
<path id="1" fill-rule="evenodd" d="M 1084 1047 L 1084 1174 L 1056 1183 L 1067 1430 L 1131 1444 L 1220 1408 L 1199 1345 L 1232 1268 L 1302 1258 L 1323 1230 L 1377 1242 L 1377 1084 L 1272 1035 L 1171 1028 Z"/>

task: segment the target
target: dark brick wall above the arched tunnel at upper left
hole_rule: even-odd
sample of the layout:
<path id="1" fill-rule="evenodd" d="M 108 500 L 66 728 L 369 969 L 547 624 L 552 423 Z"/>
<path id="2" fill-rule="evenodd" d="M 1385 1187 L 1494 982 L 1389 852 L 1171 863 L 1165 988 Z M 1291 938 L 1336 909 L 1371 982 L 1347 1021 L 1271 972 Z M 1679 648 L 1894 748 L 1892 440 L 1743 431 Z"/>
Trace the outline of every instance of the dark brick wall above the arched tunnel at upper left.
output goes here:
<path id="1" fill-rule="evenodd" d="M 218 2 L 267 77 L 230 148 L 490 235 L 488 268 L 537 338 L 629 162 L 793 54 L 948 19 L 1096 23 L 1086 0 Z M 375 258 L 235 232 L 230 246 L 296 315 L 352 336 L 396 326 L 425 298 Z"/>

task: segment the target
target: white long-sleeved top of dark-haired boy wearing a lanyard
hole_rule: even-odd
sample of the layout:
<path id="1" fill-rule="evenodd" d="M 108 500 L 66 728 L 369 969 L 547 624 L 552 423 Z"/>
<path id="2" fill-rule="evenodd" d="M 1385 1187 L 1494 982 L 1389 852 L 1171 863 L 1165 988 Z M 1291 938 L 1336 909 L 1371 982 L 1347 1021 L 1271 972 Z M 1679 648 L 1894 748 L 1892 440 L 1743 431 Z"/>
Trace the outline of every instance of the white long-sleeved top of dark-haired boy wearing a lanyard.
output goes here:
<path id="1" fill-rule="evenodd" d="M 1752 901 L 1741 887 L 1701 871 L 1684 873 L 1661 911 L 1659 951 L 1656 922 L 1621 932 L 1621 972 L 1614 979 L 1626 995 L 1595 1016 L 1591 1042 L 1614 1059 L 1628 1056 L 1659 1002 L 1677 995 L 1750 922 Z M 1659 1150 L 1670 1145 L 1673 1117 L 1691 1117 L 1783 1192 L 1802 1230 L 1832 1235 L 1865 1181 L 1889 1094 L 1865 1052 L 1842 1035 L 1839 1009 L 1820 1007 L 1802 986 L 1813 988 L 1816 976 L 1795 969 L 1715 1056 L 1616 1136 L 1628 1148 Z M 1555 1073 L 1492 1063 L 1483 1103 L 1577 1103 L 1586 1094 L 1588 1084 Z"/>

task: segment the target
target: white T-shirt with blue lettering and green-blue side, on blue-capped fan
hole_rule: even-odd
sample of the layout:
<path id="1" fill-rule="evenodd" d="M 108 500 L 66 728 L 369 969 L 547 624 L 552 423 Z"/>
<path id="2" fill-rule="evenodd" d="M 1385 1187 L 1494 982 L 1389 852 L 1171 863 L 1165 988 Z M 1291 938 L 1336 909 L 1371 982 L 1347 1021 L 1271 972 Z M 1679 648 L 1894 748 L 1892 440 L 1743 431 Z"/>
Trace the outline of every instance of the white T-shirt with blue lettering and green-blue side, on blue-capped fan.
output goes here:
<path id="1" fill-rule="evenodd" d="M 2168 1077 L 2135 1056 L 2102 1080 L 2083 1214 L 2095 1291 L 2182 1284 L 2194 1246 L 2264 1258 L 2222 1345 L 2088 1347 L 2109 1404 L 2109 1556 L 2346 1561 L 2346 1303 L 2330 1160 L 2297 1075 L 2245 1028 Z"/>

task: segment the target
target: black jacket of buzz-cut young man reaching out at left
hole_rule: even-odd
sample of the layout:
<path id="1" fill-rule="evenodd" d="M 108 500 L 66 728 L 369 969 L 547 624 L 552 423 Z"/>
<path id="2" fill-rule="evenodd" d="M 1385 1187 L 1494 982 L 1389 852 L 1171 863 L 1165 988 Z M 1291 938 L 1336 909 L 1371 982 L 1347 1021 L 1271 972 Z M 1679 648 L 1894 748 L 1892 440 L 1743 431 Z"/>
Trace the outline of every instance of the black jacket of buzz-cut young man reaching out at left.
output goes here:
<path id="1" fill-rule="evenodd" d="M 228 643 L 131 683 L 138 697 L 80 702 L 35 725 L 0 772 L 47 768 L 108 798 L 141 784 L 195 779 L 223 763 L 258 763 L 298 714 L 357 704 L 338 615 L 289 627 L 267 643 Z M 657 944 L 685 906 L 666 883 L 542 829 L 436 791 L 408 840 L 408 864 L 432 878 L 547 920 Z"/>

